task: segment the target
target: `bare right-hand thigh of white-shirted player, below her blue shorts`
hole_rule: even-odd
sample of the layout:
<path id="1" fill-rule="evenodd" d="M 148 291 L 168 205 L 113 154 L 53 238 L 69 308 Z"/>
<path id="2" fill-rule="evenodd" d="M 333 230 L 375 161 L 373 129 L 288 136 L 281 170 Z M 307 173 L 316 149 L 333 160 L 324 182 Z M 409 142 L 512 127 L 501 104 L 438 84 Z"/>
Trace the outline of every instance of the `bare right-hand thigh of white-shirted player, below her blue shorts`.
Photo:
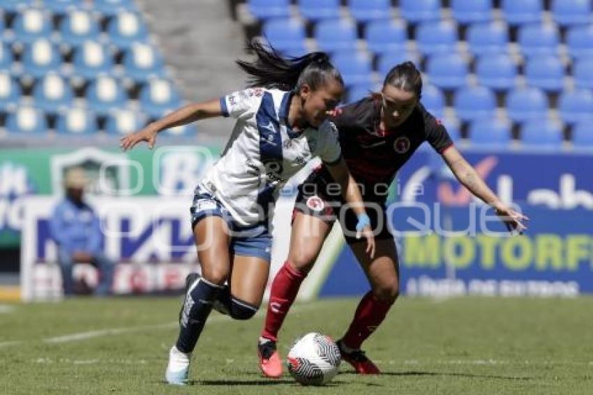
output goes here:
<path id="1" fill-rule="evenodd" d="M 270 262 L 254 256 L 234 255 L 231 294 L 252 306 L 260 306 L 270 272 Z"/>

